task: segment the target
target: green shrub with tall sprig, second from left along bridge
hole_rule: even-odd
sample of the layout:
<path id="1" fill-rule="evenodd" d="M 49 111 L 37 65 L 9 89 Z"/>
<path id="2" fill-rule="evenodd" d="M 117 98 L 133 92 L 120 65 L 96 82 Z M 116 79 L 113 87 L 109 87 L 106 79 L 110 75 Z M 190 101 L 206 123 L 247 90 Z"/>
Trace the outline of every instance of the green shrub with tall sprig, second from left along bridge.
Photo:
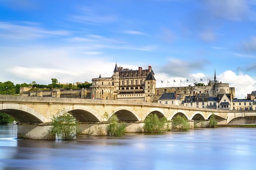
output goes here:
<path id="1" fill-rule="evenodd" d="M 108 118 L 108 114 L 104 114 Z M 117 115 L 113 114 L 108 118 L 107 133 L 111 136 L 120 137 L 125 133 L 126 124 L 118 121 Z"/>

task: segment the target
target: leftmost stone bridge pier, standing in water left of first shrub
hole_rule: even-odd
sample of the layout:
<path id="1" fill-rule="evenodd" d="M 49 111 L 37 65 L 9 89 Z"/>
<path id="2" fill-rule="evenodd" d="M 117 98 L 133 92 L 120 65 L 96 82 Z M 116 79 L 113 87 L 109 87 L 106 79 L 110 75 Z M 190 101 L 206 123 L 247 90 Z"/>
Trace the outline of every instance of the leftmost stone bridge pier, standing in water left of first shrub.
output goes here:
<path id="1" fill-rule="evenodd" d="M 48 130 L 52 126 L 46 123 L 18 123 L 18 139 L 53 140 L 55 136 L 49 136 Z"/>

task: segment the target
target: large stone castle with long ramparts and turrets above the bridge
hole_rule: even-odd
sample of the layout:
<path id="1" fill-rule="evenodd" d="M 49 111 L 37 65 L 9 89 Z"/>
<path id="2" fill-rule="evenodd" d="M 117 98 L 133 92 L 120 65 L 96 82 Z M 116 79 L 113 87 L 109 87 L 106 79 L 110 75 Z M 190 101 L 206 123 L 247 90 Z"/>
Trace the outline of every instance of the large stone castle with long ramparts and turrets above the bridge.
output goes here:
<path id="1" fill-rule="evenodd" d="M 129 100 L 157 102 L 164 93 L 175 93 L 181 101 L 186 96 L 195 96 L 205 93 L 216 97 L 218 94 L 231 94 L 235 98 L 235 88 L 228 83 L 219 82 L 214 73 L 214 80 L 209 80 L 208 85 L 195 85 L 188 87 L 162 87 L 156 88 L 156 79 L 151 66 L 148 69 L 138 67 L 138 70 L 118 67 L 117 63 L 112 77 L 92 79 L 92 86 L 83 89 L 54 89 L 38 91 L 22 91 L 23 96 L 45 96 L 61 98 L 84 98 L 104 100 Z"/>

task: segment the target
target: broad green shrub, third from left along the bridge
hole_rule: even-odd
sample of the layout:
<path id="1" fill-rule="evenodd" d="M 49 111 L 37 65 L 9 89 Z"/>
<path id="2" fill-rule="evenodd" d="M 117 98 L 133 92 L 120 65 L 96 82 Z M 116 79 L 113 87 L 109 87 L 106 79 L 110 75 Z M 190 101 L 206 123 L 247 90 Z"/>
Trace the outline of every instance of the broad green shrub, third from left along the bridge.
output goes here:
<path id="1" fill-rule="evenodd" d="M 149 114 L 144 120 L 144 133 L 161 133 L 167 131 L 165 128 L 166 118 L 158 118 L 156 114 Z"/>

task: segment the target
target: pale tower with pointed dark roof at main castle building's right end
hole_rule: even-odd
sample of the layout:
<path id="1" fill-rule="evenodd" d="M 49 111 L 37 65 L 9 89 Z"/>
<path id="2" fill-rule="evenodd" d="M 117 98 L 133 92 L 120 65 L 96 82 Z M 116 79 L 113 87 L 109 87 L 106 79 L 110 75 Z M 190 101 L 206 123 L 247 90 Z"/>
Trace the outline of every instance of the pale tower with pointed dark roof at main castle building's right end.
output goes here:
<path id="1" fill-rule="evenodd" d="M 150 70 L 150 69 L 149 69 Z M 156 88 L 156 79 L 152 71 L 149 72 L 146 80 L 145 80 L 145 101 L 153 102 L 154 100 L 154 93 Z"/>

